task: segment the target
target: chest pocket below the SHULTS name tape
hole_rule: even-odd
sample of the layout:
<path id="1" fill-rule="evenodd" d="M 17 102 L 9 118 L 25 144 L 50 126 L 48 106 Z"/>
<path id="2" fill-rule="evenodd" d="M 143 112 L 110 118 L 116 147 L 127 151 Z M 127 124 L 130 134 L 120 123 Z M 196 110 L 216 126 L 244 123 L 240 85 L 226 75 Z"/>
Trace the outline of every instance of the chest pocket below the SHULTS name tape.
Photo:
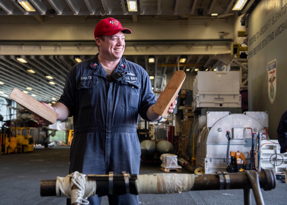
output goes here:
<path id="1" fill-rule="evenodd" d="M 93 109 L 97 105 L 98 80 L 76 79 L 78 99 L 81 110 Z"/>

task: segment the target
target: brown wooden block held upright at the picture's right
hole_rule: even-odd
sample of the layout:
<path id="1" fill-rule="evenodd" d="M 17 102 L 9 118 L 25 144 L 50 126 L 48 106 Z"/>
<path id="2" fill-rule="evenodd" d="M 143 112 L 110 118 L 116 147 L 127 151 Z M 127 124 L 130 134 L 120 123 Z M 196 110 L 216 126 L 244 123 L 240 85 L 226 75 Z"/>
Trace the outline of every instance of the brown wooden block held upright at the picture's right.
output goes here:
<path id="1" fill-rule="evenodd" d="M 175 71 L 170 82 L 166 85 L 164 91 L 160 94 L 156 104 L 152 108 L 156 114 L 167 116 L 171 103 L 175 100 L 185 79 L 185 72 L 182 70 Z"/>

